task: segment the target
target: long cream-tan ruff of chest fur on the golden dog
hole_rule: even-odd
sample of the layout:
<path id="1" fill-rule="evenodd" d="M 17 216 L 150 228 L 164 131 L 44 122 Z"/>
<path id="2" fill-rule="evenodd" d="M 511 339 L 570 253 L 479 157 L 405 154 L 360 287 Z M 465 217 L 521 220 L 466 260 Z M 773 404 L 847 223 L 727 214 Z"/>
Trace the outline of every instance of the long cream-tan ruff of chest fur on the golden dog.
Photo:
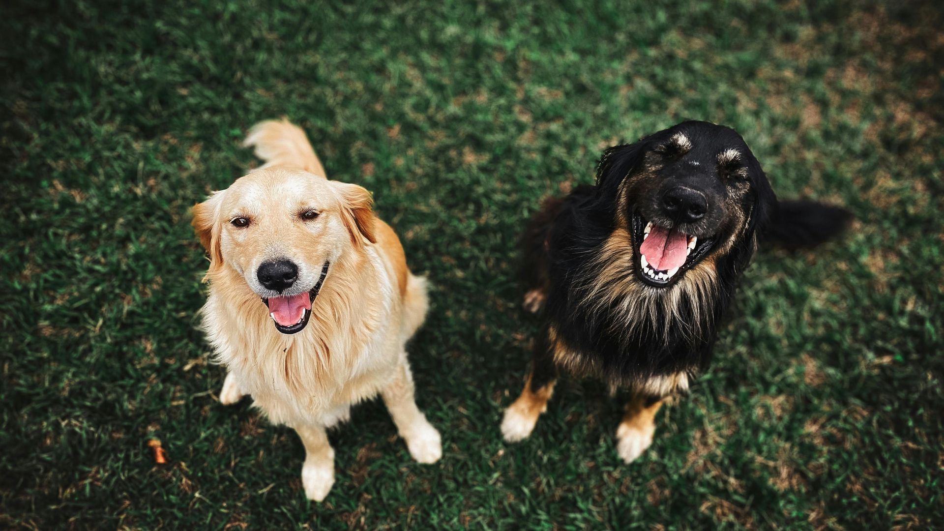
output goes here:
<path id="1" fill-rule="evenodd" d="M 278 333 L 239 279 L 214 279 L 204 327 L 216 357 L 273 422 L 332 423 L 350 404 L 375 396 L 401 362 L 391 266 L 373 249 L 332 264 L 298 334 Z"/>

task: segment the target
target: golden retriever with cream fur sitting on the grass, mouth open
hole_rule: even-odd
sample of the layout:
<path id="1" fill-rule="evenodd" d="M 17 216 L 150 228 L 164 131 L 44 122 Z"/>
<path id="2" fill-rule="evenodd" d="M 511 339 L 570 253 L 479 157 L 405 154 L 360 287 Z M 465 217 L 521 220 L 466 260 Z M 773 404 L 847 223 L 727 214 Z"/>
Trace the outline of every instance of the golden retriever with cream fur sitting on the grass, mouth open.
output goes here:
<path id="1" fill-rule="evenodd" d="M 325 177 L 301 128 L 262 122 L 245 146 L 266 163 L 194 206 L 210 254 L 203 329 L 228 368 L 220 402 L 251 395 L 295 429 L 315 501 L 334 483 L 326 429 L 378 393 L 413 458 L 434 463 L 439 432 L 416 407 L 405 349 L 426 317 L 426 280 L 370 194 Z"/>

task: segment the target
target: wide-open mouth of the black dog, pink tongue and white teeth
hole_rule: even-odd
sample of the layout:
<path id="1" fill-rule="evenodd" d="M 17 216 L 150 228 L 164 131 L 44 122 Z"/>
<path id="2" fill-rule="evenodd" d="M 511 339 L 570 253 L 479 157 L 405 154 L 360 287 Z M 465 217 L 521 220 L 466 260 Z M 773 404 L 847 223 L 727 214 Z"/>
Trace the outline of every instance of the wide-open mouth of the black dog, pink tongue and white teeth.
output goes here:
<path id="1" fill-rule="evenodd" d="M 714 243 L 713 237 L 691 236 L 674 228 L 659 227 L 643 216 L 632 216 L 633 241 L 639 259 L 639 278 L 652 286 L 665 287 L 682 278 Z"/>

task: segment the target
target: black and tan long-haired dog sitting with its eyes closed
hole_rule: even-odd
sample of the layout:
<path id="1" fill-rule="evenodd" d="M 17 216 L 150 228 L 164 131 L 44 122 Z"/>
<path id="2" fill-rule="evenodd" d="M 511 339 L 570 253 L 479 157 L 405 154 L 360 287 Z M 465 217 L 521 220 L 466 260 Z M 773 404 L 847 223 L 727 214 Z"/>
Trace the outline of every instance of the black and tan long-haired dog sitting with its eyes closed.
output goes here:
<path id="1" fill-rule="evenodd" d="M 719 321 L 758 242 L 813 246 L 850 214 L 778 202 L 731 128 L 683 122 L 608 149 L 597 184 L 549 199 L 523 237 L 525 306 L 544 325 L 508 441 L 531 434 L 558 369 L 632 390 L 616 431 L 630 462 L 663 401 L 707 367 Z"/>

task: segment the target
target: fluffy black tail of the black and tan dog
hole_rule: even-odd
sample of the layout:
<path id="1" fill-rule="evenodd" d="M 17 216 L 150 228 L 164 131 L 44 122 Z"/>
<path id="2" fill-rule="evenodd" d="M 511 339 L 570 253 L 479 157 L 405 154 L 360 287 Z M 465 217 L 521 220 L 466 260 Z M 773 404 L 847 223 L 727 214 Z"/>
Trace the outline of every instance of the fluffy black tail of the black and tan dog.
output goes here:
<path id="1" fill-rule="evenodd" d="M 788 248 L 815 247 L 849 227 L 852 214 L 816 201 L 781 201 L 764 239 Z"/>

